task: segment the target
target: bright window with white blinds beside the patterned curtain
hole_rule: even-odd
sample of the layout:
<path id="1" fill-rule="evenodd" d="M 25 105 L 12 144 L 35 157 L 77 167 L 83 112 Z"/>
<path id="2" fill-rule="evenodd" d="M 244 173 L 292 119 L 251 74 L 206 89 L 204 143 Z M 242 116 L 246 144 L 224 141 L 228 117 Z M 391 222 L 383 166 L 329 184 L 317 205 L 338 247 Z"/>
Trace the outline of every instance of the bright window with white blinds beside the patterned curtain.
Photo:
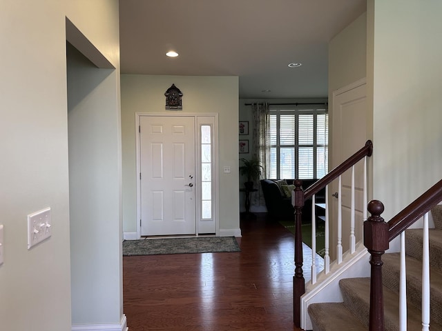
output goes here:
<path id="1" fill-rule="evenodd" d="M 271 109 L 269 122 L 269 178 L 320 179 L 327 174 L 327 109 Z"/>

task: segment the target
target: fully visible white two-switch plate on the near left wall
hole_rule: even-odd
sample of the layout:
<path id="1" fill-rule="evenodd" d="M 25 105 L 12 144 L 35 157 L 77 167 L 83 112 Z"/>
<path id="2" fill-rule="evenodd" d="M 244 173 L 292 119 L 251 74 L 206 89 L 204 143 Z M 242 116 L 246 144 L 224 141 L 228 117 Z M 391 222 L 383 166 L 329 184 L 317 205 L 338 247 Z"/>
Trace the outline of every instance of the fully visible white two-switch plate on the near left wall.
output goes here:
<path id="1" fill-rule="evenodd" d="M 50 208 L 28 215 L 28 250 L 50 237 Z"/>

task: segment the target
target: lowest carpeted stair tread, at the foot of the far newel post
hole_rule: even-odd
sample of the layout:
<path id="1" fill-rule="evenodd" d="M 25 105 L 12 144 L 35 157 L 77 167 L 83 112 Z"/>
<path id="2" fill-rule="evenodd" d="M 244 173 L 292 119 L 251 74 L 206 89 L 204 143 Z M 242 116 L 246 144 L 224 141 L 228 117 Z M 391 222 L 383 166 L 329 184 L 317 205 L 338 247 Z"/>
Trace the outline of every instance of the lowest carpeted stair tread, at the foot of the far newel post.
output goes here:
<path id="1" fill-rule="evenodd" d="M 308 310 L 311 320 L 314 321 L 315 331 L 367 331 L 343 303 L 312 303 Z"/>

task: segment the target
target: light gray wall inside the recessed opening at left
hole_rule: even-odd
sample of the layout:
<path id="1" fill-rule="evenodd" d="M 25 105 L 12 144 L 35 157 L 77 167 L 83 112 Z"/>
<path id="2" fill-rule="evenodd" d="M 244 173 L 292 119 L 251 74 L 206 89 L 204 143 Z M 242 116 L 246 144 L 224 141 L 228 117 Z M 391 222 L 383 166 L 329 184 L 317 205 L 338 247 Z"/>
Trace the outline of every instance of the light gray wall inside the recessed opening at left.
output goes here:
<path id="1" fill-rule="evenodd" d="M 116 323 L 122 299 L 116 74 L 72 46 L 67 58 L 73 325 Z"/>

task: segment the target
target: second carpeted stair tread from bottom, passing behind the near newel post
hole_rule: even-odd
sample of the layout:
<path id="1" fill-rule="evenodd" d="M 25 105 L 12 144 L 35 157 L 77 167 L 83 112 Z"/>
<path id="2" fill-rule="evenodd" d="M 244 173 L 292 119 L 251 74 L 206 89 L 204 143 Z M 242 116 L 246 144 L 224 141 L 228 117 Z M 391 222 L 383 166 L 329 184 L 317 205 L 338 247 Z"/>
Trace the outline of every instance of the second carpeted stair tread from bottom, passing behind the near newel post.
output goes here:
<path id="1" fill-rule="evenodd" d="M 343 297 L 347 299 L 347 301 L 344 299 L 347 309 L 369 312 L 369 278 L 341 279 L 339 284 Z M 383 286 L 383 301 L 385 330 L 397 330 L 399 321 L 398 292 Z M 355 314 L 356 311 L 354 311 Z M 408 330 L 420 330 L 422 327 L 421 310 L 414 305 L 407 305 L 407 316 Z M 361 318 L 363 323 L 368 323 L 368 313 Z M 431 325 L 432 330 L 442 330 L 442 326 L 437 323 L 432 323 Z"/>

